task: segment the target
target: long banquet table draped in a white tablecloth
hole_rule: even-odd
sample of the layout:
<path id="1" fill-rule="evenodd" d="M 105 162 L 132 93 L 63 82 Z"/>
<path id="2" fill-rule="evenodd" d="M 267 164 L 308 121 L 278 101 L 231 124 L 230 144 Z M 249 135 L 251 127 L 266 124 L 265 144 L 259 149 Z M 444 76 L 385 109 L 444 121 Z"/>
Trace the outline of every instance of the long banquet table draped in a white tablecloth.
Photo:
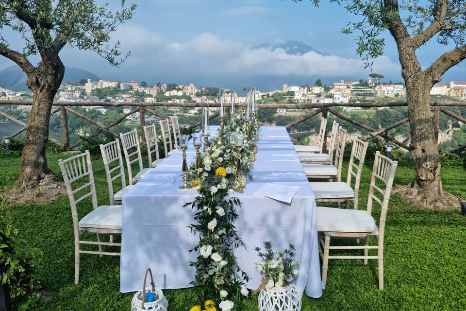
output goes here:
<path id="1" fill-rule="evenodd" d="M 217 128 L 211 126 L 211 134 Z M 254 270 L 254 263 L 260 261 L 254 248 L 271 241 L 274 249 L 284 249 L 290 242 L 296 248 L 295 259 L 300 262 L 296 281 L 300 294 L 320 297 L 316 200 L 298 155 L 284 127 L 261 127 L 256 145 L 253 179 L 247 181 L 244 193 L 233 195 L 241 201 L 235 226 L 247 245 L 247 249 L 240 247 L 234 254 L 241 269 L 250 276 L 247 287 L 256 289 L 261 283 L 259 272 Z M 187 158 L 192 160 L 194 156 L 191 144 Z M 195 211 L 182 206 L 192 202 L 198 193 L 195 189 L 178 189 L 182 184 L 181 164 L 182 152 L 178 150 L 123 195 L 122 293 L 140 290 L 148 267 L 155 284 L 162 289 L 190 287 L 189 282 L 195 279 L 195 270 L 189 262 L 195 261 L 198 254 L 188 252 L 199 242 L 199 237 L 188 228 Z M 266 183 L 301 189 L 287 204 L 254 194 Z"/>

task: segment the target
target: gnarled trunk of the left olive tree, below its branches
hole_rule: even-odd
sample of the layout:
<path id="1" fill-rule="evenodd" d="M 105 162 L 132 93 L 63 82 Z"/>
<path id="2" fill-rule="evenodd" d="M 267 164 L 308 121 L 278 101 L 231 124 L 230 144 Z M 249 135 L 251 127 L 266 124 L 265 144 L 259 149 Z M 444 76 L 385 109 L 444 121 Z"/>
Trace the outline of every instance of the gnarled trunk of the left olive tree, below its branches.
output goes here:
<path id="1" fill-rule="evenodd" d="M 21 170 L 13 188 L 16 193 L 37 188 L 47 176 L 54 179 L 53 172 L 47 166 L 46 148 L 53 98 L 64 73 L 65 67 L 58 61 L 48 66 L 41 62 L 33 73 L 28 74 L 27 84 L 33 91 L 33 105 L 21 156 Z"/>

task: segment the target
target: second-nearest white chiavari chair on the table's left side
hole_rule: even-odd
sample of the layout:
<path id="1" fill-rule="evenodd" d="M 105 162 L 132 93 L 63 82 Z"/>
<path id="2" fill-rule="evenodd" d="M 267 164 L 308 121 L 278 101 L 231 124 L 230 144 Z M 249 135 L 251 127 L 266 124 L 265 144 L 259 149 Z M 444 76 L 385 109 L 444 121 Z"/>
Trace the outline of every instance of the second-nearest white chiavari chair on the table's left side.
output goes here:
<path id="1" fill-rule="evenodd" d="M 121 204 L 123 194 L 133 186 L 126 186 L 125 168 L 123 164 L 123 156 L 121 155 L 120 140 L 116 138 L 115 141 L 109 142 L 105 145 L 100 145 L 100 153 L 102 154 L 103 167 L 105 169 L 105 176 L 107 177 L 110 204 Z M 118 177 L 121 179 L 121 188 L 115 192 L 113 182 Z"/>

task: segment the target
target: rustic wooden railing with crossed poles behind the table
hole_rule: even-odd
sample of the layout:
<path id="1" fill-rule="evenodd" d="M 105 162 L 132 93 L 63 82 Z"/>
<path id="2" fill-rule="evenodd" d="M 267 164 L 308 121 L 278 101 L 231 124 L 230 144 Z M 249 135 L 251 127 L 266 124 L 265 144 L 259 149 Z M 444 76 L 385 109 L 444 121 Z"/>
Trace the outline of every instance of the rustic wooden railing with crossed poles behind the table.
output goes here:
<path id="1" fill-rule="evenodd" d="M 0 107 L 1 105 L 32 105 L 32 102 L 28 102 L 28 101 L 1 101 L 0 102 Z M 68 135 L 68 122 L 67 122 L 67 113 L 72 113 L 82 119 L 84 119 L 85 121 L 88 121 L 92 124 L 94 124 L 95 126 L 97 126 L 99 128 L 99 130 L 97 130 L 95 133 L 91 134 L 91 136 L 96 136 L 96 135 L 99 135 L 102 131 L 107 131 L 109 133 L 111 133 L 112 135 L 114 135 L 116 137 L 116 133 L 113 133 L 110 129 L 112 127 L 114 127 L 116 124 L 120 123 L 121 121 L 125 120 L 128 116 L 132 115 L 133 113 L 136 113 L 136 112 L 139 112 L 140 113 L 140 126 L 141 126 L 141 135 L 142 135 L 142 139 L 145 140 L 145 137 L 144 137 L 144 131 L 142 130 L 142 128 L 145 126 L 146 124 L 146 121 L 145 121 L 145 113 L 146 111 L 159 117 L 160 119 L 166 119 L 165 116 L 163 115 L 160 115 L 159 113 L 157 113 L 156 111 L 154 111 L 153 109 L 151 109 L 150 107 L 201 107 L 201 104 L 200 103 L 193 103 L 193 102 L 185 102 L 185 103 L 109 103 L 109 102 L 55 102 L 53 103 L 53 105 L 55 106 L 51 113 L 52 114 L 55 114 L 57 113 L 58 111 L 60 111 L 60 114 L 61 114 L 61 121 L 62 121 L 62 134 L 63 134 L 63 144 L 65 146 L 65 148 L 67 149 L 73 149 L 75 148 L 76 146 L 78 146 L 80 143 L 83 142 L 83 140 L 79 140 L 75 143 L 73 143 L 72 145 L 69 144 L 69 135 Z M 216 104 L 209 104 L 210 107 L 219 107 L 219 104 L 216 103 Z M 76 111 L 74 109 L 71 108 L 71 106 L 82 106 L 82 107 L 88 107 L 88 106 L 105 106 L 105 107 L 121 107 L 121 106 L 135 106 L 135 108 L 133 110 L 131 110 L 130 112 L 124 114 L 122 117 L 120 117 L 119 119 L 117 119 L 116 121 L 114 121 L 112 124 L 109 124 L 107 126 L 104 126 L 102 124 L 100 124 L 99 122 L 83 115 L 82 113 L 80 113 L 79 111 Z M 402 120 L 399 120 L 387 127 L 384 127 L 384 128 L 381 128 L 381 129 L 374 129 L 374 128 L 371 128 L 370 126 L 367 126 L 366 124 L 363 124 L 359 121 L 355 121 L 355 120 L 352 120 L 350 119 L 349 117 L 335 111 L 332 109 L 332 107 L 362 107 L 362 108 L 378 108 L 378 107 L 403 107 L 403 106 L 407 106 L 407 103 L 379 103 L 379 104 L 376 104 L 376 103 L 325 103 L 325 104 L 311 104 L 311 103 L 295 103 L 295 104 L 281 104 L 281 103 L 274 103 L 274 104 L 259 104 L 259 107 L 260 108 L 270 108 L 270 109 L 276 109 L 276 108 L 285 108 L 285 109 L 314 109 L 312 110 L 310 113 L 300 117 L 298 120 L 296 121 L 293 121 L 287 125 L 285 125 L 285 128 L 286 129 L 291 129 L 292 127 L 300 124 L 301 122 L 303 121 L 306 121 L 314 116 L 316 116 L 317 114 L 322 114 L 322 117 L 324 118 L 327 118 L 328 117 L 328 114 L 331 113 L 333 114 L 335 117 L 337 118 L 340 118 L 342 120 L 345 120 L 345 121 L 348 121 L 350 122 L 351 124 L 354 124 L 358 127 L 361 127 L 363 129 L 365 129 L 366 131 L 369 131 L 370 132 L 370 135 L 366 136 L 363 138 L 363 140 L 368 140 L 372 137 L 375 137 L 375 136 L 380 136 L 380 137 L 383 137 L 387 140 L 390 140 L 392 141 L 393 143 L 397 144 L 398 146 L 400 146 L 401 148 L 404 148 L 408 151 L 411 150 L 410 146 L 396 140 L 396 139 L 393 139 L 393 138 L 390 138 L 386 135 L 386 132 L 388 132 L 389 130 L 399 126 L 399 125 L 402 125 L 406 122 L 409 122 L 408 118 L 405 118 L 405 119 L 402 119 Z M 439 114 L 440 112 L 448 115 L 449 117 L 451 118 L 454 118 L 458 121 L 461 121 L 463 123 L 466 123 L 466 118 L 463 117 L 463 116 L 460 116 L 452 111 L 450 111 L 449 109 L 447 109 L 446 107 L 449 107 L 449 106 L 466 106 L 466 101 L 461 101 L 461 102 L 455 102 L 455 101 L 442 101 L 442 102 L 431 102 L 431 106 L 432 106 L 432 109 L 433 109 L 433 123 L 434 123 L 434 129 L 435 129 L 435 135 L 436 137 L 438 138 L 438 131 L 439 131 L 439 125 L 438 125 L 438 122 L 439 122 Z M 235 104 L 235 107 L 237 108 L 245 108 L 246 107 L 246 104 L 244 103 L 240 103 L 240 104 Z M 225 106 L 225 109 L 228 111 L 229 109 L 229 105 L 227 104 Z M 17 120 L 16 118 L 6 114 L 4 111 L 2 111 L 0 109 L 0 116 L 3 116 L 5 118 L 7 118 L 8 120 L 10 121 L 13 121 L 19 125 L 22 126 L 22 128 L 20 130 L 18 130 L 17 132 L 13 133 L 11 135 L 11 137 L 15 137 L 17 135 L 19 135 L 20 133 L 22 133 L 23 131 L 27 130 L 28 128 L 28 125 L 25 124 L 24 122 L 21 122 L 19 120 Z M 218 113 L 212 115 L 210 117 L 210 119 L 214 119 L 218 116 Z M 170 119 L 168 119 L 168 121 L 170 121 Z M 195 124 L 192 124 L 191 126 L 188 127 L 189 130 L 192 130 L 194 128 L 196 128 L 197 126 L 200 126 L 201 122 L 197 122 Z M 324 143 L 325 144 L 325 143 Z M 325 146 L 324 146 L 325 147 Z M 456 147 L 452 150 L 449 151 L 449 153 L 456 153 L 456 152 L 459 152 L 463 149 L 466 149 L 466 145 L 463 145 L 463 146 L 459 146 L 459 147 Z"/>

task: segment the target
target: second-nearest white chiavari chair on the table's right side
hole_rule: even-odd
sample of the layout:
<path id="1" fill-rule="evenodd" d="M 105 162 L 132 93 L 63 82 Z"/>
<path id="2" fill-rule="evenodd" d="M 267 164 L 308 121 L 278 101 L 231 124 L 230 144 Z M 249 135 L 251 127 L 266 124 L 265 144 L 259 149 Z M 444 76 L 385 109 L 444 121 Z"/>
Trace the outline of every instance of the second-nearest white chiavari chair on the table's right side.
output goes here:
<path id="1" fill-rule="evenodd" d="M 367 142 L 355 138 L 351 149 L 346 183 L 342 181 L 309 183 L 317 202 L 346 201 L 347 207 L 349 207 L 350 202 L 353 202 L 353 208 L 358 209 L 359 184 L 361 183 L 361 173 L 363 172 L 366 151 Z M 354 180 L 354 190 L 351 187 L 352 180 Z"/>

